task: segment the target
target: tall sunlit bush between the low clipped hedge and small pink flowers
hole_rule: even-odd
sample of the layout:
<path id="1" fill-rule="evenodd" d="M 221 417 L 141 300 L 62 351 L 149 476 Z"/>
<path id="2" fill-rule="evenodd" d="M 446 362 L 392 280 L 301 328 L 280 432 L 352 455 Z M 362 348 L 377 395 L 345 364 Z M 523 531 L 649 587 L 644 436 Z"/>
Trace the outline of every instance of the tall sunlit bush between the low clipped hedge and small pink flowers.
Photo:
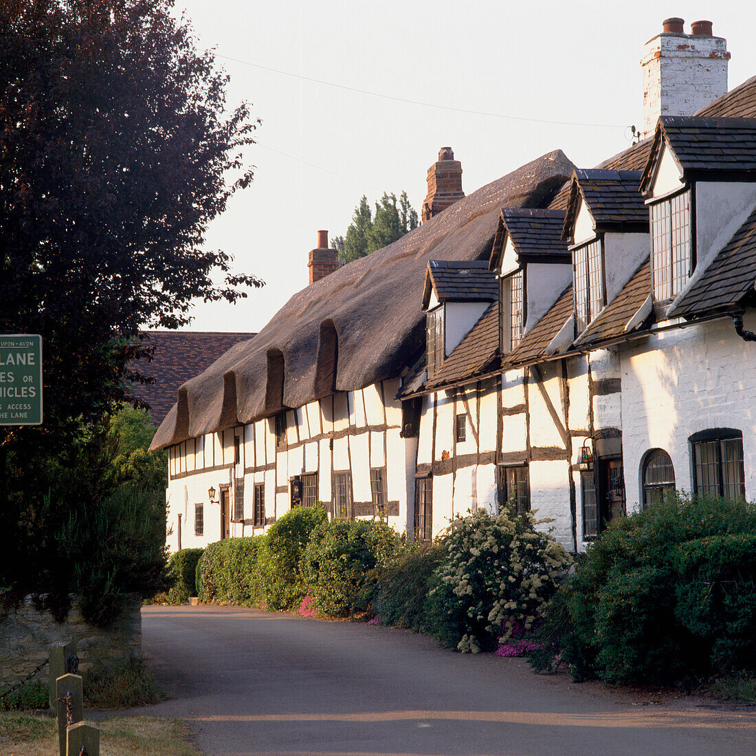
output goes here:
<path id="1" fill-rule="evenodd" d="M 262 594 L 271 609 L 298 606 L 307 593 L 302 558 L 312 531 L 327 519 L 322 506 L 296 507 L 265 534 L 258 552 Z"/>

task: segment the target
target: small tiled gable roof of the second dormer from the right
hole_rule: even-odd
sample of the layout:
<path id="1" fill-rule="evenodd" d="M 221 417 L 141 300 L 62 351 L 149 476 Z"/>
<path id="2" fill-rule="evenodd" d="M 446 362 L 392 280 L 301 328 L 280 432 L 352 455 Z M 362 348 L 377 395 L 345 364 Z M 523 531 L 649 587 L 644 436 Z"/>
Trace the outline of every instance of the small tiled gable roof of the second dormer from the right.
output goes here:
<path id="1" fill-rule="evenodd" d="M 640 194 L 640 171 L 578 169 L 572 176 L 569 207 L 565 217 L 565 238 L 572 236 L 572 226 L 582 196 L 596 222 L 596 231 L 615 226 L 648 229 L 649 209 Z"/>

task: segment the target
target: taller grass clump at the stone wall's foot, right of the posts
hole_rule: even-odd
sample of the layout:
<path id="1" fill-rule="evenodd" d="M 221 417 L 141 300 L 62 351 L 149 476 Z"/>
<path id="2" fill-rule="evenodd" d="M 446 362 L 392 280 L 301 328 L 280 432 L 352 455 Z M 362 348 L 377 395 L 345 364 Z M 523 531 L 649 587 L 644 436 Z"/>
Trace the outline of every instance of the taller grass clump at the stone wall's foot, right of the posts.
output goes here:
<path id="1" fill-rule="evenodd" d="M 84 677 L 84 700 L 100 709 L 147 706 L 164 701 L 166 694 L 155 684 L 141 657 L 115 667 L 95 667 Z"/>

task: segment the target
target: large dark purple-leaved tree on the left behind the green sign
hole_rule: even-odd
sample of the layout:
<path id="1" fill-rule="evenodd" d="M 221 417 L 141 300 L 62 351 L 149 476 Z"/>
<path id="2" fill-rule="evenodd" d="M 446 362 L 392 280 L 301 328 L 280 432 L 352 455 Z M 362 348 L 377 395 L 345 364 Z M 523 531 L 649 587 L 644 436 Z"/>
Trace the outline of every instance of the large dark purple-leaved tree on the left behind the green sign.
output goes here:
<path id="1" fill-rule="evenodd" d="M 42 334 L 45 381 L 44 425 L 0 428 L 5 564 L 21 565 L 0 568 L 0 586 L 44 583 L 60 512 L 107 495 L 95 458 L 139 378 L 126 367 L 147 353 L 139 328 L 175 328 L 195 297 L 233 302 L 262 285 L 203 250 L 252 179 L 243 150 L 257 122 L 246 104 L 227 109 L 227 77 L 171 7 L 0 5 L 0 332 Z"/>

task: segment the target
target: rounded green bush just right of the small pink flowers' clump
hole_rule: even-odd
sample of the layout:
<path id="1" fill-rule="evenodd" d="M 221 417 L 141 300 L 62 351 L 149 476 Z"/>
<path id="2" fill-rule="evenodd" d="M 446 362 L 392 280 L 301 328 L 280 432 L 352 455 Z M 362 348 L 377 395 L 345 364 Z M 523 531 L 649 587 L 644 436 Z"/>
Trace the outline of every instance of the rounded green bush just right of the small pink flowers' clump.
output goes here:
<path id="1" fill-rule="evenodd" d="M 305 549 L 304 574 L 318 611 L 339 617 L 354 606 L 367 574 L 401 553 L 401 539 L 386 524 L 371 520 L 324 521 Z"/>

